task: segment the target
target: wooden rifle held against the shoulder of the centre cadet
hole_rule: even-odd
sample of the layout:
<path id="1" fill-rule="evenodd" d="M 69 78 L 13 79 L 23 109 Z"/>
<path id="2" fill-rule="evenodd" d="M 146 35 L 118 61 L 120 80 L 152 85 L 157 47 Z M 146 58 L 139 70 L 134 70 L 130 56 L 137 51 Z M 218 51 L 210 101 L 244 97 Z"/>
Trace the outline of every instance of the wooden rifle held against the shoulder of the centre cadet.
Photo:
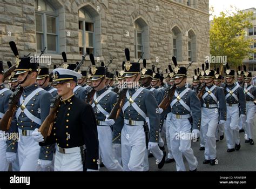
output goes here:
<path id="1" fill-rule="evenodd" d="M 118 91 L 117 103 L 114 105 L 113 109 L 111 110 L 108 119 L 116 120 L 118 118 L 120 112 L 122 111 L 122 107 L 124 105 L 126 92 L 127 92 L 127 89 L 120 89 Z"/>

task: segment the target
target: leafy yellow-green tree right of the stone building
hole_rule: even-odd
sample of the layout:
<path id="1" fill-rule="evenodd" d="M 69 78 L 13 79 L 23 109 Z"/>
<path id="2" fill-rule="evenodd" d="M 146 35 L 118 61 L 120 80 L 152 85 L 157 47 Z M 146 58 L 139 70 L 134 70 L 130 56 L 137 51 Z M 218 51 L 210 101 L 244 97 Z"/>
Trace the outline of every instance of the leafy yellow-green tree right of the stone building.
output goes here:
<path id="1" fill-rule="evenodd" d="M 247 38 L 245 29 L 252 28 L 253 12 L 221 12 L 214 16 L 210 26 L 211 56 L 224 56 L 229 65 L 237 68 L 242 60 L 254 52 L 250 49 L 253 40 Z M 222 67 L 222 64 L 220 65 Z M 221 68 L 222 70 L 222 68 Z"/>

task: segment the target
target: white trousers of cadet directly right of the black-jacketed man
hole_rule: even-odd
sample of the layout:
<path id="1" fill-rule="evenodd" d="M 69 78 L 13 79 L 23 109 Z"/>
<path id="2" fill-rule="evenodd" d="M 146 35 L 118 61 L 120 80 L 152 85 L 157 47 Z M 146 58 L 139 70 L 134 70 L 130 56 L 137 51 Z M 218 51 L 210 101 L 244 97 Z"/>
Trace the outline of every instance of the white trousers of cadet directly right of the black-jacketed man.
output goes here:
<path id="1" fill-rule="evenodd" d="M 97 126 L 99 139 L 99 153 L 102 161 L 109 171 L 123 171 L 123 167 L 114 159 L 113 133 L 110 126 Z"/>

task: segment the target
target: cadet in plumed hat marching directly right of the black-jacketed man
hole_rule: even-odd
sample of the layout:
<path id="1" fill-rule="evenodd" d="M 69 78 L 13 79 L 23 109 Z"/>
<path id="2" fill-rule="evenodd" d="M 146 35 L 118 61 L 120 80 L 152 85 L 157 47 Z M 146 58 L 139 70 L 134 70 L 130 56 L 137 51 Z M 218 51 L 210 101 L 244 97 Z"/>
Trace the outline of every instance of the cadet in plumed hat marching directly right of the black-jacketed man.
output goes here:
<path id="1" fill-rule="evenodd" d="M 113 127 L 123 127 L 124 121 L 121 116 L 114 122 L 107 119 L 114 104 L 117 103 L 117 94 L 108 89 L 106 82 L 106 68 L 100 66 L 96 68 L 95 60 L 90 54 L 92 62 L 91 81 L 92 87 L 96 90 L 93 95 L 92 108 L 96 116 L 98 139 L 99 139 L 99 154 L 102 161 L 109 171 L 123 171 L 123 167 L 114 159 L 113 155 Z"/>

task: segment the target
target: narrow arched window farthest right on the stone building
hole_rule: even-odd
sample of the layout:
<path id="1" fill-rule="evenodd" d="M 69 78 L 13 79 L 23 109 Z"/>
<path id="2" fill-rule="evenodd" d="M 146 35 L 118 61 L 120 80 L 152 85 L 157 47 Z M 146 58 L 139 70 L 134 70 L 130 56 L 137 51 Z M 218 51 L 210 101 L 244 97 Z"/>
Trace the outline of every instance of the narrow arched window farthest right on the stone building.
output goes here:
<path id="1" fill-rule="evenodd" d="M 188 31 L 187 49 L 188 61 L 197 62 L 197 42 L 196 35 L 193 30 Z"/>

